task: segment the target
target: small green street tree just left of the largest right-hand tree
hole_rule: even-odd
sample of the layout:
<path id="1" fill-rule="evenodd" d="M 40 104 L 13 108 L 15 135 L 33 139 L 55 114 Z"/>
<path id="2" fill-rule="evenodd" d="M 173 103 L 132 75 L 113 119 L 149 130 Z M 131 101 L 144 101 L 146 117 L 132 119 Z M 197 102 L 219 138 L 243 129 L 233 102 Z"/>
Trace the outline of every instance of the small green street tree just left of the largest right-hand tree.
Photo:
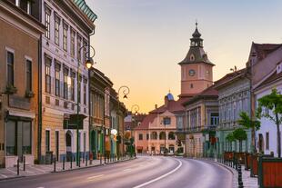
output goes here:
<path id="1" fill-rule="evenodd" d="M 244 126 L 247 129 L 252 130 L 252 148 L 251 152 L 256 152 L 256 131 L 260 128 L 260 122 L 258 120 L 251 119 L 246 112 L 240 113 L 240 119 L 238 124 Z"/>

